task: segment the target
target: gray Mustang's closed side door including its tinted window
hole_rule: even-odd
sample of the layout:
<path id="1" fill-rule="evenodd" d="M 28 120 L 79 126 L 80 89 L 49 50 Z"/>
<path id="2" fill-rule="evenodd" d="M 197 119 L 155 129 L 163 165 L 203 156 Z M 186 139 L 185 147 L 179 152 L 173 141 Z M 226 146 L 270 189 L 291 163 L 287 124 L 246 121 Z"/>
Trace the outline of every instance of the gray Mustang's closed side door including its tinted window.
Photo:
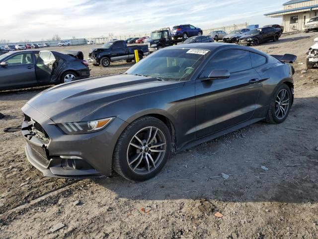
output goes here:
<path id="1" fill-rule="evenodd" d="M 201 81 L 214 69 L 228 70 L 227 79 Z M 249 52 L 231 49 L 217 53 L 195 83 L 196 136 L 202 137 L 252 117 L 261 83 Z"/>

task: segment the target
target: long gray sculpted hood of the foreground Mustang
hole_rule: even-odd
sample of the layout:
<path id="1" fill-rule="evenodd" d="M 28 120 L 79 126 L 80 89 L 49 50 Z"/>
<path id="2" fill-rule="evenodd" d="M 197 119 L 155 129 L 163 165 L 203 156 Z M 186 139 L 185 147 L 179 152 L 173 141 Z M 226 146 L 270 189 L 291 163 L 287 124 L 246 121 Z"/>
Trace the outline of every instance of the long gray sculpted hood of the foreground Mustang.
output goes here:
<path id="1" fill-rule="evenodd" d="M 173 88 L 177 83 L 180 82 L 125 74 L 90 78 L 49 88 L 29 100 L 24 107 L 31 106 L 56 123 L 86 121 L 92 120 L 90 116 L 93 113 L 108 105 Z M 108 114 L 105 117 L 114 116 L 111 112 Z"/>

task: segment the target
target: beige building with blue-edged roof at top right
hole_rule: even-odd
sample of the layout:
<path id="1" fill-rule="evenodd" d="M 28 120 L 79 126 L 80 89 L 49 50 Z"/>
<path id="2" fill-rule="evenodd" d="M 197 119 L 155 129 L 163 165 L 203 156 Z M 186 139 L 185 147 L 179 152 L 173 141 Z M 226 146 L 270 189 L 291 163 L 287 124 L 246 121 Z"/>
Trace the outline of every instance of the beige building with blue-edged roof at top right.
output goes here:
<path id="1" fill-rule="evenodd" d="M 311 17 L 318 15 L 318 0 L 291 0 L 284 9 L 264 14 L 267 17 L 283 17 L 285 32 L 302 31 Z"/>

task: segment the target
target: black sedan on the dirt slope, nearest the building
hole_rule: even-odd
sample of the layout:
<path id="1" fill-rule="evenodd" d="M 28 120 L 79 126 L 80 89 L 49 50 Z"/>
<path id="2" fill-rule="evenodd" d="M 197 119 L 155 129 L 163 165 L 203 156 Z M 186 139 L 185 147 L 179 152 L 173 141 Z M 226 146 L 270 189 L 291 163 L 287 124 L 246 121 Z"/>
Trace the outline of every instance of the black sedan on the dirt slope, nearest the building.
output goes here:
<path id="1" fill-rule="evenodd" d="M 274 27 L 262 27 L 249 31 L 237 41 L 239 45 L 257 46 L 267 41 L 278 41 L 280 29 Z"/>

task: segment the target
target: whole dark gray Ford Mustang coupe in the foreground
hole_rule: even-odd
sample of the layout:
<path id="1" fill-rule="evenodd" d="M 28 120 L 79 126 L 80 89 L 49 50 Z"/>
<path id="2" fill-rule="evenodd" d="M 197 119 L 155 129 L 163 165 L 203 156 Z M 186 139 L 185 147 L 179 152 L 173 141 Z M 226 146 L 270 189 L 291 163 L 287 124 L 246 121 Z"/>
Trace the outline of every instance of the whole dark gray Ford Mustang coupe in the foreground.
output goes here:
<path id="1" fill-rule="evenodd" d="M 177 45 L 126 73 L 47 89 L 26 103 L 28 160 L 44 176 L 143 181 L 178 152 L 259 120 L 283 122 L 296 56 L 225 43 Z"/>

